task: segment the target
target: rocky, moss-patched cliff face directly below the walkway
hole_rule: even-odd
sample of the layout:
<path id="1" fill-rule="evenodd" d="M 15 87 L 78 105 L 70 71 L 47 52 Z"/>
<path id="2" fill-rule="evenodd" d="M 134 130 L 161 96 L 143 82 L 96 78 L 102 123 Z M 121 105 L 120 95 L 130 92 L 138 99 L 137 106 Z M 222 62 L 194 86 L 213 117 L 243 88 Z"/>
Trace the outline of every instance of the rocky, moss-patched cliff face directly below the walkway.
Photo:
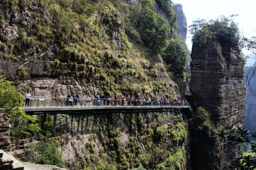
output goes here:
<path id="1" fill-rule="evenodd" d="M 46 134 L 61 143 L 70 170 L 189 167 L 188 122 L 180 110 L 37 114 Z M 29 148 L 28 148 L 29 149 Z"/>

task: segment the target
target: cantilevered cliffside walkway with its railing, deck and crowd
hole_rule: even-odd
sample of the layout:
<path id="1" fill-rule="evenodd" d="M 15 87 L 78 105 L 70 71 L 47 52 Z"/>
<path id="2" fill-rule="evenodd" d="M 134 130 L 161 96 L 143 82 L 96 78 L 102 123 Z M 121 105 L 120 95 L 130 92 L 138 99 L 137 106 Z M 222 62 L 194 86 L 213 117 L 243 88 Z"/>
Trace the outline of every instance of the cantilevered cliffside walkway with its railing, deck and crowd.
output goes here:
<path id="1" fill-rule="evenodd" d="M 27 114 L 41 114 L 46 112 L 82 112 L 82 111 L 141 111 L 141 110 L 170 110 L 182 109 L 192 111 L 188 102 L 159 102 L 146 101 L 139 102 L 121 99 L 95 99 L 95 98 L 78 98 L 74 101 L 67 97 L 45 97 L 33 96 L 30 97 L 28 106 L 22 108 Z"/>

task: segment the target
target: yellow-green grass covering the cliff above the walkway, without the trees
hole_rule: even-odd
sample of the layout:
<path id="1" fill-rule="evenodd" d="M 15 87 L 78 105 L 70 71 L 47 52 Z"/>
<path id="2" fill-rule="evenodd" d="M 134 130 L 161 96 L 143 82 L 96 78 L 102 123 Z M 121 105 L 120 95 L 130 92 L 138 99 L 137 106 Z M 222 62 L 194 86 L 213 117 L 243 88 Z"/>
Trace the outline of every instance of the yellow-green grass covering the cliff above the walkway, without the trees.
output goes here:
<path id="1" fill-rule="evenodd" d="M 17 7 L 12 13 L 35 8 L 30 1 L 6 3 Z M 33 61 L 33 56 L 50 50 L 55 56 L 45 61 L 42 66 L 45 71 L 59 77 L 61 84 L 84 86 L 84 95 L 96 89 L 97 93 L 112 95 L 164 96 L 168 93 L 176 97 L 161 56 L 146 45 L 128 41 L 124 14 L 110 1 L 40 0 L 38 8 L 42 10 L 28 11 L 33 21 L 31 28 L 19 26 L 17 38 L 0 44 L 6 59 L 20 63 L 25 59 Z M 66 67 L 68 70 L 63 70 Z M 27 79 L 29 73 L 28 70 L 28 74 L 20 75 L 18 71 L 16 78 Z M 161 85 L 161 81 L 166 81 L 166 85 Z"/>

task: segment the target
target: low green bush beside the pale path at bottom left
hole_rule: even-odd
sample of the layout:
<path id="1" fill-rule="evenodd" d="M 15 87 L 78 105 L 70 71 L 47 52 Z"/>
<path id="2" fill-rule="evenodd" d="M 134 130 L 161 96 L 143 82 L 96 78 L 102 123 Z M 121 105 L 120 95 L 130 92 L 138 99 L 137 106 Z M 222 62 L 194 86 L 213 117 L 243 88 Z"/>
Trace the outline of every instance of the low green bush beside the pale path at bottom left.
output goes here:
<path id="1" fill-rule="evenodd" d="M 22 161 L 34 162 L 37 164 L 56 165 L 65 167 L 59 151 L 59 142 L 56 139 L 48 139 L 46 142 L 30 144 L 30 147 L 21 155 Z"/>

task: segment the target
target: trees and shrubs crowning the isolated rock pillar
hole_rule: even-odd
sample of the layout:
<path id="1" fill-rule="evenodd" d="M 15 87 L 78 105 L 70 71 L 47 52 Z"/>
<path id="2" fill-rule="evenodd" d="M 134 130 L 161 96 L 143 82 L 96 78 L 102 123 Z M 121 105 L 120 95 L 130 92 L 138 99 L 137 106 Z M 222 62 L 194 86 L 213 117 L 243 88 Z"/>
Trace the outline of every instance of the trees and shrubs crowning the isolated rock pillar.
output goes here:
<path id="1" fill-rule="evenodd" d="M 231 15 L 230 17 L 221 16 L 216 20 L 197 19 L 193 21 L 190 27 L 190 33 L 193 34 L 192 42 L 197 42 L 204 46 L 208 42 L 214 42 L 219 36 L 229 38 L 231 41 L 239 42 L 239 29 L 238 25 L 233 22 L 234 17 L 237 15 Z"/>

